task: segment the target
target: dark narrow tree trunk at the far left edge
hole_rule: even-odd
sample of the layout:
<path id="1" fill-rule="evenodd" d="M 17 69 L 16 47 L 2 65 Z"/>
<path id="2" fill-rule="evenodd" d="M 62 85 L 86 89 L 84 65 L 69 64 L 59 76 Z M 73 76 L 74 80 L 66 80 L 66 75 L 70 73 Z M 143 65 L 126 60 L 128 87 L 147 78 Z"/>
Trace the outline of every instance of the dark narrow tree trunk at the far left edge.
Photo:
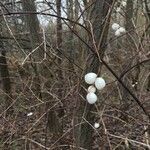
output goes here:
<path id="1" fill-rule="evenodd" d="M 2 9 L 2 8 L 1 8 Z M 0 10 L 1 12 L 1 10 Z M 5 114 L 3 114 L 4 118 L 7 117 L 9 119 L 10 115 L 13 113 L 13 106 L 12 104 L 12 89 L 11 89 L 11 81 L 10 81 L 10 74 L 9 74 L 9 68 L 8 68 L 8 63 L 7 63 L 7 57 L 6 57 L 6 49 L 4 47 L 4 43 L 2 40 L 3 36 L 3 20 L 0 18 L 0 78 L 1 78 L 1 101 L 0 103 L 3 105 L 4 110 L 1 110 L 1 112 L 5 111 Z M 6 119 L 6 120 L 7 120 Z M 9 135 L 9 128 L 7 122 L 3 124 L 3 130 L 2 130 L 2 135 L 4 134 L 5 138 L 8 139 Z M 1 136 L 2 138 L 2 136 Z M 1 147 L 2 148 L 2 147 Z M 4 143 L 3 145 L 4 150 L 9 150 L 9 140 Z"/>

